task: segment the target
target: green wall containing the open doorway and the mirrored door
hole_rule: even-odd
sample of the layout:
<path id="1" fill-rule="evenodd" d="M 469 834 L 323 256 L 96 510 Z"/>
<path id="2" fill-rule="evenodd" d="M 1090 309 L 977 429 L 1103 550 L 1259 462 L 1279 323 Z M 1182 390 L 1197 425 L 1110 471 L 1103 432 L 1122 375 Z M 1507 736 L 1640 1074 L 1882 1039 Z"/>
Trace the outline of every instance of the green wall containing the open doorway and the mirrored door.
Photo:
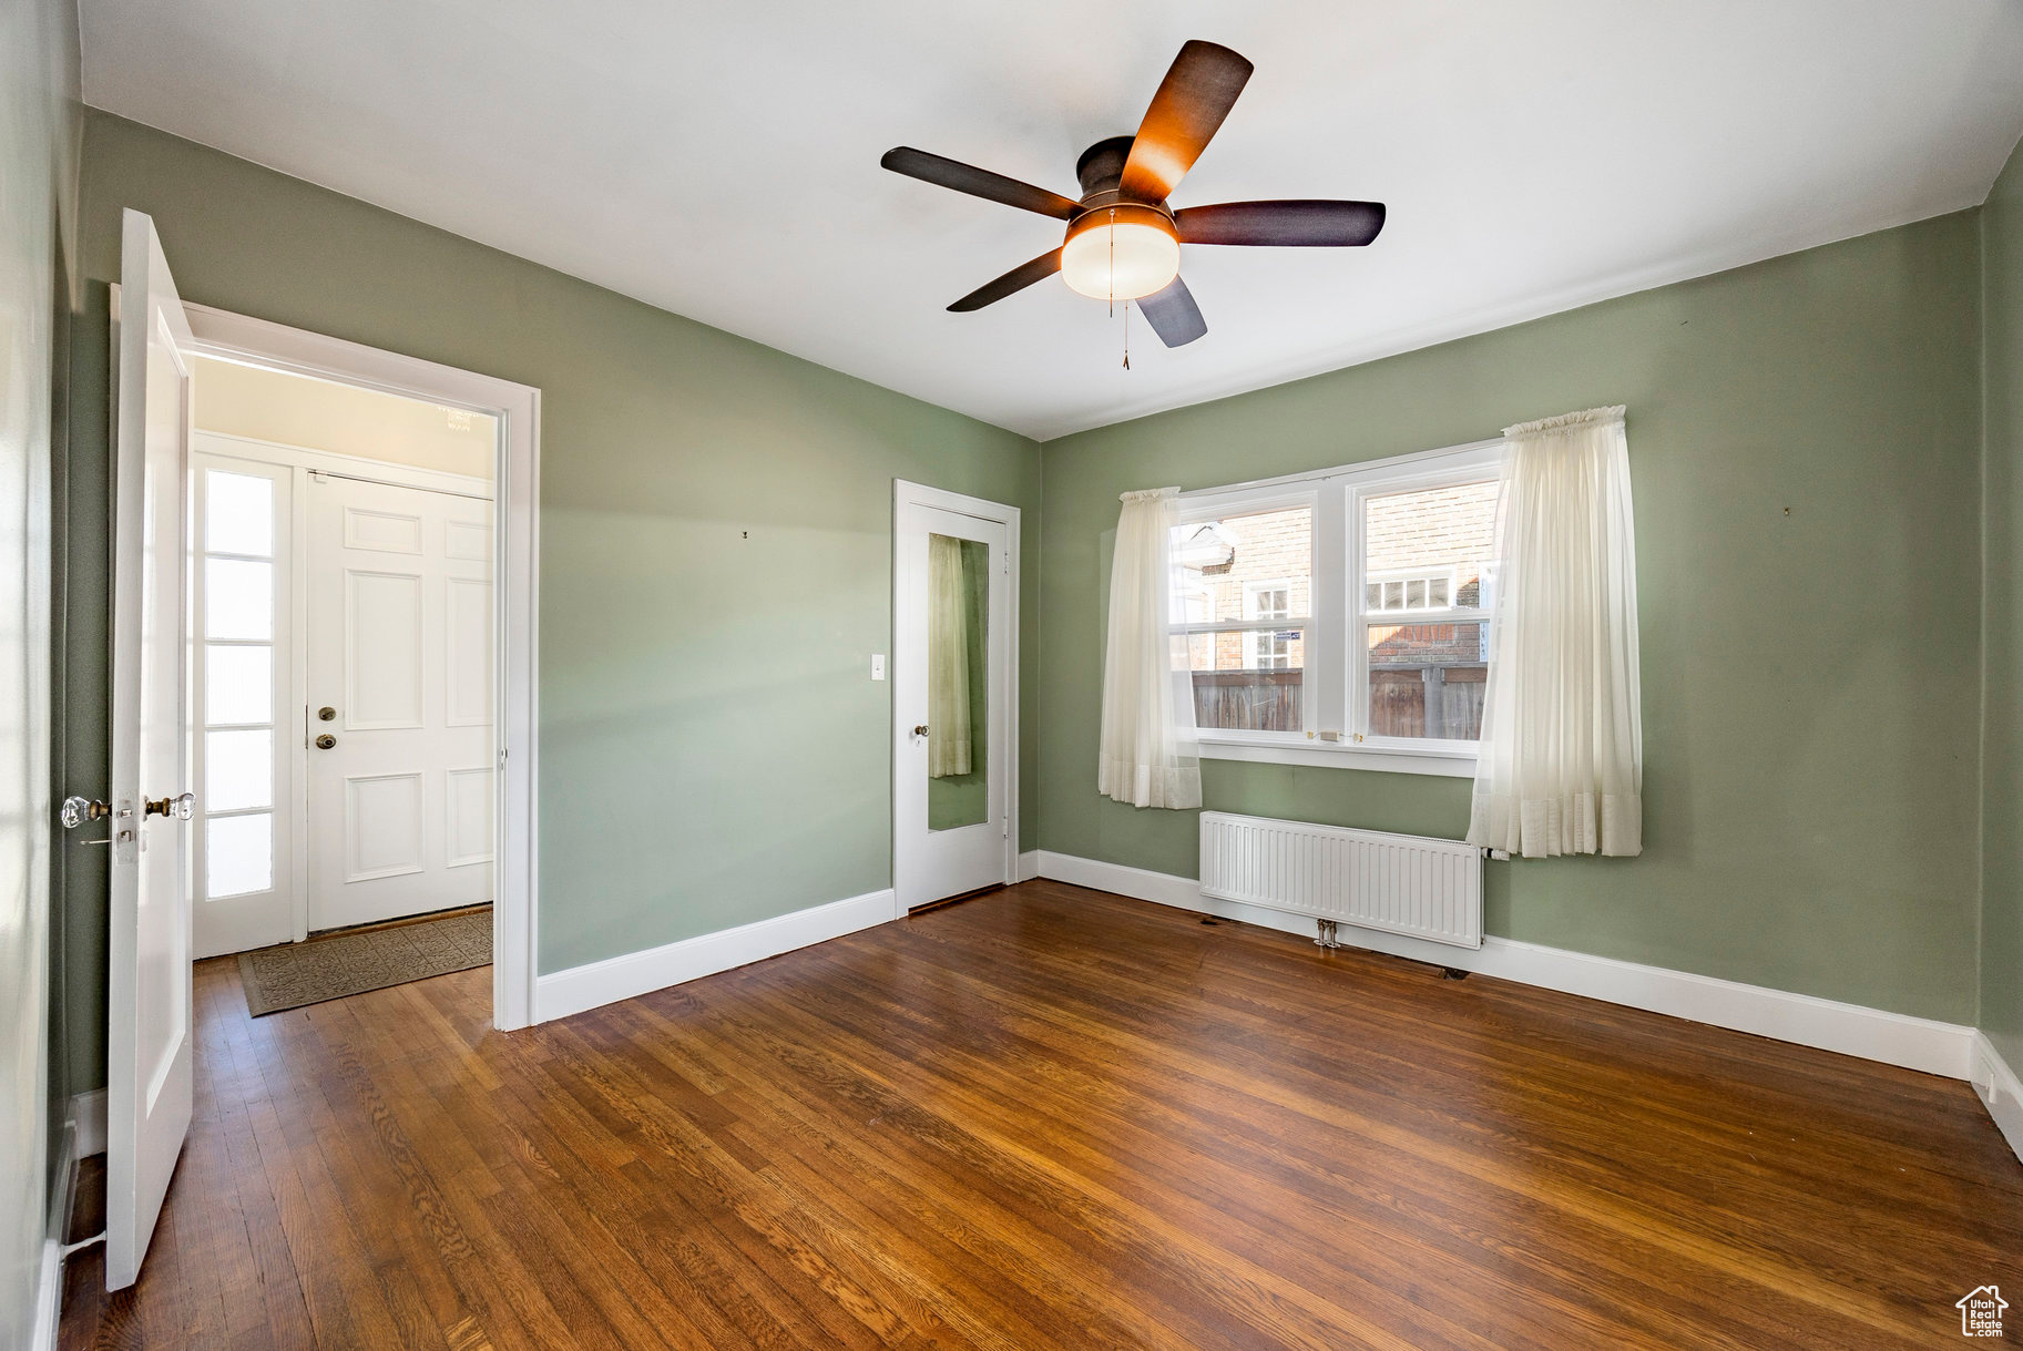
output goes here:
<path id="1" fill-rule="evenodd" d="M 890 886 L 892 686 L 870 655 L 890 651 L 892 479 L 1016 504 L 1036 530 L 1032 441 L 91 113 L 75 368 L 101 447 L 121 206 L 154 216 L 186 299 L 540 386 L 540 971 Z M 75 520 L 87 738 L 101 504 L 81 493 Z M 1028 584 L 1028 633 L 1038 603 Z M 1022 653 L 1036 692 L 1040 643 Z M 1028 762 L 1034 712 L 1028 694 Z M 75 771 L 103 779 L 103 742 Z M 71 1056 L 101 1082 L 103 880 L 69 904 L 87 930 Z"/>

